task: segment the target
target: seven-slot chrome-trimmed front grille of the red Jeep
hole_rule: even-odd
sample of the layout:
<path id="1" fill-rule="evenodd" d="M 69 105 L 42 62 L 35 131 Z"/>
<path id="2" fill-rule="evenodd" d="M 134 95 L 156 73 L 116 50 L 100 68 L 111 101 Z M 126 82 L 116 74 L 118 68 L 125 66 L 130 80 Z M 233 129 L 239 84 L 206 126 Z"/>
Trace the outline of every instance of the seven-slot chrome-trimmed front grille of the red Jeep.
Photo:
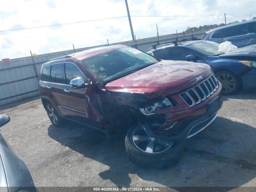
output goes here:
<path id="1" fill-rule="evenodd" d="M 213 94 L 218 88 L 218 82 L 216 78 L 212 75 L 204 82 L 187 90 L 186 92 L 180 94 L 180 97 L 188 104 L 188 106 L 194 106 L 197 103 L 205 100 L 211 94 Z"/>

